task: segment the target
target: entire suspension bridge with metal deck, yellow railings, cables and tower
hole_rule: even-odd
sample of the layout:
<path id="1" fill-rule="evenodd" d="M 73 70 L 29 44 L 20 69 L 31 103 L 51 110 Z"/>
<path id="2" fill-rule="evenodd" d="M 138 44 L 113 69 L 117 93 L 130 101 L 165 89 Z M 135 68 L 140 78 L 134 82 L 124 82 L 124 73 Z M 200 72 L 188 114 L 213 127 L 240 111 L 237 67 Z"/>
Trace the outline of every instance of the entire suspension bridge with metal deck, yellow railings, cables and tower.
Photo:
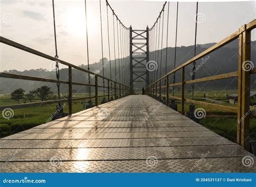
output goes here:
<path id="1" fill-rule="evenodd" d="M 100 20 L 102 20 L 103 1 L 99 1 Z M 87 69 L 59 59 L 53 8 L 53 28 L 55 34 L 55 56 L 44 54 L 8 38 L 1 37 L 4 45 L 18 48 L 44 59 L 56 62 L 56 80 L 11 73 L 1 73 L 2 78 L 25 81 L 56 83 L 58 99 L 36 103 L 0 106 L 0 110 L 23 109 L 48 104 L 57 104 L 56 117 L 52 121 L 29 130 L 0 139 L 1 172 L 255 172 L 256 162 L 250 150 L 250 80 L 256 69 L 249 67 L 251 60 L 251 31 L 256 27 L 254 19 L 242 25 L 206 51 L 197 54 L 197 17 L 195 21 L 194 57 L 168 70 L 164 38 L 168 41 L 170 2 L 165 2 L 152 27 L 133 30 L 126 27 L 118 18 L 109 2 L 107 10 L 107 38 L 109 61 L 102 60 L 99 74 L 90 71 L 88 32 Z M 198 15 L 197 3 L 196 15 Z M 178 10 L 176 18 L 176 46 Z M 110 13 L 112 13 L 113 33 L 110 33 Z M 167 12 L 167 20 L 164 13 Z M 85 17 L 87 16 L 85 1 Z M 86 17 L 87 24 L 87 17 Z M 101 48 L 103 54 L 103 28 L 101 24 Z M 163 34 L 166 24 L 166 35 Z M 87 29 L 87 26 L 86 26 Z M 113 35 L 113 42 L 110 41 Z M 231 41 L 239 40 L 238 71 L 196 79 L 196 61 Z M 111 45 L 113 44 L 113 45 Z M 111 60 L 111 50 L 114 55 Z M 151 53 L 150 53 L 151 52 Z M 165 57 L 165 62 L 162 59 Z M 117 60 L 118 59 L 118 60 Z M 104 63 L 110 64 L 110 77 L 104 74 Z M 165 66 L 164 66 L 165 63 Z M 246 63 L 246 64 L 245 64 Z M 59 79 L 59 64 L 68 66 L 68 79 Z M 191 80 L 185 81 L 185 68 L 193 65 Z M 111 68 L 112 66 L 112 68 Z M 156 68 L 158 67 L 158 68 Z M 165 67 L 163 70 L 162 67 Z M 246 67 L 246 68 L 244 68 Z M 114 72 L 111 70 L 114 69 Z M 75 70 L 88 75 L 86 82 L 72 81 Z M 106 69 L 105 69 L 106 70 Z M 181 71 L 181 82 L 176 82 L 176 73 Z M 101 75 L 100 75 L 101 74 Z M 199 82 L 238 78 L 237 107 L 224 106 L 194 100 L 194 85 Z M 145 95 L 136 95 L 134 85 L 142 82 Z M 60 85 L 68 85 L 68 98 L 62 98 Z M 185 85 L 192 85 L 192 98 L 185 98 Z M 73 85 L 89 88 L 88 96 L 74 98 Z M 174 96 L 174 88 L 181 87 L 181 97 Z M 171 93 L 171 91 L 172 93 Z M 73 102 L 88 100 L 87 109 L 73 113 Z M 177 101 L 181 112 L 177 112 Z M 184 116 L 186 103 L 210 106 L 214 109 L 237 113 L 237 143 L 201 126 L 193 118 Z M 69 112 L 64 113 L 62 104 L 68 103 Z M 246 165 L 247 164 L 247 165 Z"/>

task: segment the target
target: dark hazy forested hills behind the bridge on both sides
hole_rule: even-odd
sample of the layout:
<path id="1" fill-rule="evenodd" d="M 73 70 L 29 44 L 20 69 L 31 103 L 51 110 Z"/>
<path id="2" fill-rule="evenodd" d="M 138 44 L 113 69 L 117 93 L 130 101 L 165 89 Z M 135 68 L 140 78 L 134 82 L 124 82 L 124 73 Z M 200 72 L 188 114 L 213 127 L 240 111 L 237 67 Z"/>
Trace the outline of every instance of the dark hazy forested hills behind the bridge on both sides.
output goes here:
<path id="1" fill-rule="evenodd" d="M 212 44 L 201 44 L 197 45 L 197 54 L 205 51 L 207 48 L 214 45 Z M 254 67 L 256 67 L 256 41 L 251 42 L 251 59 L 252 62 L 254 62 Z M 158 70 L 160 68 L 160 54 L 161 51 L 154 51 L 150 53 L 150 56 L 152 54 L 158 55 L 159 53 L 159 66 Z M 194 55 L 194 46 L 181 46 L 177 47 L 177 62 L 176 66 L 186 62 L 187 60 L 191 59 Z M 165 56 L 166 56 L 166 48 L 163 49 L 162 53 L 162 74 L 164 75 L 165 71 Z M 170 71 L 173 69 L 173 60 L 174 60 L 174 48 L 169 47 L 167 48 L 167 71 Z M 104 61 L 107 61 L 105 59 Z M 157 61 L 157 60 L 156 60 Z M 204 61 L 204 63 L 202 63 Z M 114 60 L 111 62 L 112 64 L 112 77 L 114 77 Z M 117 69 L 118 69 L 118 59 L 116 60 L 117 63 Z M 87 66 L 84 65 L 84 63 L 81 63 L 80 67 L 83 67 L 87 69 Z M 200 68 L 198 68 L 196 72 L 196 78 L 201 77 L 207 77 L 212 75 L 218 75 L 223 73 L 229 73 L 233 71 L 237 71 L 238 69 L 238 41 L 235 40 L 231 42 L 231 44 L 226 45 L 225 47 L 222 47 L 215 51 L 214 53 L 210 55 L 206 55 L 203 59 L 200 59 L 197 61 L 197 65 L 203 64 Z M 110 64 L 105 64 L 105 71 L 104 75 L 106 77 L 110 77 Z M 122 68 L 121 68 L 122 69 Z M 129 69 L 129 67 L 126 68 L 126 70 Z M 93 64 L 90 64 L 90 70 L 93 72 L 96 72 L 100 75 L 102 75 L 102 60 L 99 62 L 95 62 Z M 188 66 L 185 69 L 186 72 L 186 80 L 189 80 L 191 78 L 191 71 L 192 71 L 192 65 Z M 28 76 L 35 76 L 35 77 L 44 77 L 44 78 L 56 78 L 56 73 L 54 70 L 49 71 L 46 69 L 31 69 L 31 70 L 25 70 L 25 71 L 17 71 L 17 70 L 9 70 L 5 71 L 8 73 L 13 74 L 20 74 L 20 75 L 28 75 Z M 126 71 L 127 72 L 127 71 Z M 118 75 L 119 77 L 119 75 Z M 177 73 L 177 81 L 180 81 L 180 73 Z M 76 73 L 73 74 L 73 81 L 74 82 L 87 82 L 88 75 L 86 73 L 83 73 L 82 71 L 77 70 Z M 68 69 L 60 69 L 60 80 L 68 80 Z M 92 80 L 93 82 L 93 80 Z M 251 84 L 255 82 L 255 75 L 251 76 Z M 11 91 L 14 91 L 17 88 L 23 88 L 26 91 L 29 90 L 35 90 L 38 87 L 41 87 L 42 85 L 49 85 L 52 88 L 56 87 L 55 83 L 45 83 L 45 82 L 35 82 L 35 81 L 23 81 L 23 80 L 14 80 L 10 78 L 0 78 L 0 93 L 10 93 Z M 203 83 L 198 84 L 199 86 Z M 5 86 L 4 86 L 5 85 Z M 235 78 L 230 78 L 224 81 L 212 81 L 207 84 L 203 84 L 204 88 L 225 88 L 225 89 L 236 89 L 237 88 L 237 80 Z M 139 86 L 139 85 L 137 85 Z M 253 88 L 256 88 L 256 85 L 253 85 Z M 79 87 L 75 87 L 76 90 L 79 90 Z M 196 88 L 197 89 L 197 88 Z M 55 90 L 55 89 L 52 89 Z M 84 92 L 85 89 L 81 89 L 79 92 Z M 68 87 L 62 87 L 62 92 L 67 92 Z"/>

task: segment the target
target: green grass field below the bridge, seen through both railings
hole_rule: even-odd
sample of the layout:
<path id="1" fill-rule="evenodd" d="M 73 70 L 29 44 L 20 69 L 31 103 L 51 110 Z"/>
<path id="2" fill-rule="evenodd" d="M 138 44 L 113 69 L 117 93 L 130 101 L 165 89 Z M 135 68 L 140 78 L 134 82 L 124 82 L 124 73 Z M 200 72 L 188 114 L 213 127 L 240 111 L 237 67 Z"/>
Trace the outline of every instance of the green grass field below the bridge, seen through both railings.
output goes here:
<path id="1" fill-rule="evenodd" d="M 195 92 L 195 100 L 204 100 L 204 102 L 210 102 L 204 99 L 204 93 Z M 213 100 L 219 100 L 225 103 L 218 103 L 220 105 L 233 106 L 234 104 L 228 103 L 226 95 L 234 94 L 236 91 L 228 90 L 225 92 L 216 91 L 207 91 L 205 95 L 207 98 Z M 92 94 L 93 95 L 93 94 Z M 86 94 L 77 94 L 75 97 L 86 97 Z M 176 97 L 181 97 L 180 92 L 176 92 L 174 95 Z M 191 93 L 186 93 L 185 98 L 191 98 Z M 99 99 L 102 100 L 102 98 Z M 32 100 L 32 102 L 40 102 L 39 98 Z M 73 103 L 73 113 L 84 110 L 83 101 L 77 101 Z M 94 100 L 93 100 L 94 102 Z M 255 99 L 252 100 L 255 104 Z M 28 103 L 28 101 L 26 102 Z M 15 100 L 10 99 L 10 95 L 0 95 L 0 105 L 12 105 L 17 104 Z M 85 100 L 85 105 L 87 100 Z M 4 137 L 13 133 L 21 132 L 32 128 L 37 125 L 46 123 L 46 121 L 51 120 L 52 113 L 56 112 L 57 104 L 42 105 L 37 107 L 28 107 L 24 109 L 14 110 L 14 117 L 10 119 L 4 119 L 0 115 L 0 136 Z M 178 111 L 180 112 L 180 103 L 177 103 Z M 189 110 L 189 103 L 185 104 L 185 111 Z M 218 133 L 221 136 L 235 142 L 237 137 L 237 117 L 235 113 L 225 112 L 223 110 L 212 109 L 207 106 L 196 105 L 196 108 L 203 108 L 206 111 L 206 117 L 201 119 L 199 123 L 208 129 L 212 130 L 215 133 Z M 68 104 L 64 107 L 64 112 L 68 112 Z M 256 119 L 250 120 L 250 138 L 256 140 Z"/>

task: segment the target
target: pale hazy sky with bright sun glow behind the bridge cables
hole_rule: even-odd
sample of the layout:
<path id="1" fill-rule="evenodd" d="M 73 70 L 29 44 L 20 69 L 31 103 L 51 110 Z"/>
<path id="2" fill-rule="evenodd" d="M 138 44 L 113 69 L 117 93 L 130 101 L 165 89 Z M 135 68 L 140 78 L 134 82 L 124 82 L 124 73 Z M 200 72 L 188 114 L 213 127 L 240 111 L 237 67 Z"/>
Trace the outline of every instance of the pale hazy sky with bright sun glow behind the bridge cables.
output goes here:
<path id="1" fill-rule="evenodd" d="M 51 0 L 1 0 L 1 36 L 55 55 Z M 151 27 L 164 2 L 109 1 L 126 26 L 134 29 Z M 170 3 L 169 46 L 174 46 L 176 2 Z M 84 1 L 55 1 L 59 59 L 80 65 L 87 63 Z M 104 57 L 107 48 L 106 3 L 102 0 Z M 198 24 L 198 44 L 218 42 L 236 31 L 242 24 L 255 19 L 255 2 L 200 2 L 203 23 Z M 196 3 L 179 3 L 178 46 L 193 45 Z M 165 9 L 165 21 L 167 6 Z M 87 1 L 90 63 L 101 58 L 99 1 Z M 111 59 L 113 59 L 113 25 L 110 19 Z M 116 21 L 115 23 L 116 24 Z M 166 25 L 166 24 L 165 24 Z M 164 29 L 166 31 L 166 28 Z M 255 31 L 252 39 L 255 40 Z M 166 32 L 164 32 L 165 38 Z M 116 44 L 117 45 L 117 44 Z M 164 46 L 166 46 L 164 40 Z M 0 70 L 51 69 L 51 61 L 1 44 Z"/>

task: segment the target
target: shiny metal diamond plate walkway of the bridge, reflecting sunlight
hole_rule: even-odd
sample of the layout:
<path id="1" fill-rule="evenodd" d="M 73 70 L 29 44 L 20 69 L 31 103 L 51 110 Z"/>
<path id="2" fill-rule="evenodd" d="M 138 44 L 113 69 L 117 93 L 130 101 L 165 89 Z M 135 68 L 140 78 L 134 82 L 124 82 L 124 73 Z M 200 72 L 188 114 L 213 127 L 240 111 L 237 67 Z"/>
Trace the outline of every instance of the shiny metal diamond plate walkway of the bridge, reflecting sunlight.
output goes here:
<path id="1" fill-rule="evenodd" d="M 149 96 L 0 139 L 1 172 L 255 172 L 255 156 Z M 252 156 L 254 165 L 242 164 Z"/>

